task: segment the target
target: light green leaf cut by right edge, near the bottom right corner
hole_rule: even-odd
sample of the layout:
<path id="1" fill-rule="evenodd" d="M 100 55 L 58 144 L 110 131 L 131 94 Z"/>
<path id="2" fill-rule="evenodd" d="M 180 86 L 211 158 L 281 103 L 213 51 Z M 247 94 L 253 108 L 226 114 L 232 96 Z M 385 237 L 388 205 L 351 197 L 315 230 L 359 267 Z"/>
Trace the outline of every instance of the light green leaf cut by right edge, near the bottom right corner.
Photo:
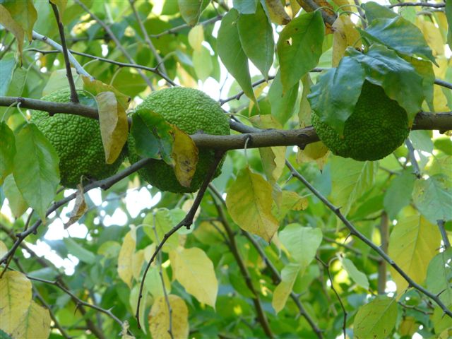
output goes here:
<path id="1" fill-rule="evenodd" d="M 441 302 L 452 305 L 452 247 L 433 257 L 427 268 L 427 290 L 438 295 Z"/>

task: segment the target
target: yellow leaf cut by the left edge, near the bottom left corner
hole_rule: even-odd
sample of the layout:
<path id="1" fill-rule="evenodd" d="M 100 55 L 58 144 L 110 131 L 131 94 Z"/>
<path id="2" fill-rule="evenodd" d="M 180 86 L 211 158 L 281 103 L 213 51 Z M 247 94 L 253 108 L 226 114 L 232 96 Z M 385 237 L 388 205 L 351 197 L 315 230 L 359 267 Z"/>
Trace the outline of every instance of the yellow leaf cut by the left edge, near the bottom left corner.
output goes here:
<path id="1" fill-rule="evenodd" d="M 30 307 L 30 280 L 15 270 L 5 272 L 0 279 L 0 301 L 0 330 L 12 333 Z"/>

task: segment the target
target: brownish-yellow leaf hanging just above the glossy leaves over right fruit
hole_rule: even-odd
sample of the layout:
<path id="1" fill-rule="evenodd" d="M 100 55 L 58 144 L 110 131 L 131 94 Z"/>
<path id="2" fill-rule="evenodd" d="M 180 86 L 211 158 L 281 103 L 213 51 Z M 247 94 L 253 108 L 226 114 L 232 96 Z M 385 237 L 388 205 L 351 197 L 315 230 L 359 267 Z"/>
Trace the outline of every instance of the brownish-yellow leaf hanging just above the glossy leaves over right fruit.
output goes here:
<path id="1" fill-rule="evenodd" d="M 350 20 L 350 16 L 338 16 L 333 23 L 333 67 L 338 66 L 343 58 L 345 49 L 348 46 L 361 45 L 359 42 L 359 32 L 355 24 Z"/>

